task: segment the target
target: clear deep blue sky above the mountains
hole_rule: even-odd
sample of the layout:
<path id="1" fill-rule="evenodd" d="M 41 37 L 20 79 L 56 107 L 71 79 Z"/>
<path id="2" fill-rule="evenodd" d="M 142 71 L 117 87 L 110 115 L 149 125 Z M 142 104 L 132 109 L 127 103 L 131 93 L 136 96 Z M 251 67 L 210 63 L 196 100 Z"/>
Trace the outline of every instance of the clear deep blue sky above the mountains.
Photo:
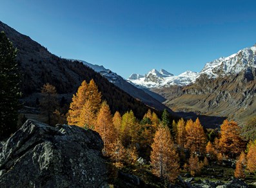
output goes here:
<path id="1" fill-rule="evenodd" d="M 1 0 L 0 20 L 55 55 L 124 78 L 201 71 L 256 43 L 255 0 Z"/>

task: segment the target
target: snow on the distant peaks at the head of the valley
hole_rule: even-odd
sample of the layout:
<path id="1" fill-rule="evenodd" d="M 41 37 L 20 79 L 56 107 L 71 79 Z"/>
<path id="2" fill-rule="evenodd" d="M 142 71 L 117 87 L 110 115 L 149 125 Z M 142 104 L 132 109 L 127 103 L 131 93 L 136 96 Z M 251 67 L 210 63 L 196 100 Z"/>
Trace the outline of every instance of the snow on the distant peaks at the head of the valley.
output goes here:
<path id="1" fill-rule="evenodd" d="M 142 88 L 161 88 L 164 86 L 185 86 L 192 82 L 195 82 L 198 73 L 193 71 L 186 71 L 180 75 L 174 76 L 168 71 L 155 69 L 149 71 L 144 77 L 139 79 L 128 79 L 129 82 L 135 84 L 135 86 Z"/>

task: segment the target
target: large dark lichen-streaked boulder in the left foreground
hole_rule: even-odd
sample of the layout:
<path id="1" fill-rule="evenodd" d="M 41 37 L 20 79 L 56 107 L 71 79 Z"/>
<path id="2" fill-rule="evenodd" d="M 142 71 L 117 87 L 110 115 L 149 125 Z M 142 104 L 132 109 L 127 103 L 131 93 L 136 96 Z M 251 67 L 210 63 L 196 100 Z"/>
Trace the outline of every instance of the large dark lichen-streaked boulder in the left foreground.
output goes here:
<path id="1" fill-rule="evenodd" d="M 98 133 L 35 120 L 0 146 L 1 187 L 107 187 Z"/>

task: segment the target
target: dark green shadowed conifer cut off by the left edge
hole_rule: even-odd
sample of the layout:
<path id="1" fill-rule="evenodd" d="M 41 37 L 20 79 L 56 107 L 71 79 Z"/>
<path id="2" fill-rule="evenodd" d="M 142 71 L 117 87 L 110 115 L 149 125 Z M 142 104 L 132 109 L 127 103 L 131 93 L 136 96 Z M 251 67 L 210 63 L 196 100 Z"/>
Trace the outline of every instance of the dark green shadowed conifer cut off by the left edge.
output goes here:
<path id="1" fill-rule="evenodd" d="M 0 32 L 0 140 L 15 131 L 18 110 L 21 108 L 16 54 L 17 50 L 5 32 Z"/>

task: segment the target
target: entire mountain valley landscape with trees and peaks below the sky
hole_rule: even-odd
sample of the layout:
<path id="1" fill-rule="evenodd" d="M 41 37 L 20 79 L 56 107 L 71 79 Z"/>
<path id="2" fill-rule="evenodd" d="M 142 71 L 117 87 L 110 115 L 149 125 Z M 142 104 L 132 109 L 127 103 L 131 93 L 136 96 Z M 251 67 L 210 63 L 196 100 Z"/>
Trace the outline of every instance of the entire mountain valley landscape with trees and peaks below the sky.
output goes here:
<path id="1" fill-rule="evenodd" d="M 256 185 L 256 44 L 126 80 L 1 21 L 0 39 L 4 187 Z"/>

